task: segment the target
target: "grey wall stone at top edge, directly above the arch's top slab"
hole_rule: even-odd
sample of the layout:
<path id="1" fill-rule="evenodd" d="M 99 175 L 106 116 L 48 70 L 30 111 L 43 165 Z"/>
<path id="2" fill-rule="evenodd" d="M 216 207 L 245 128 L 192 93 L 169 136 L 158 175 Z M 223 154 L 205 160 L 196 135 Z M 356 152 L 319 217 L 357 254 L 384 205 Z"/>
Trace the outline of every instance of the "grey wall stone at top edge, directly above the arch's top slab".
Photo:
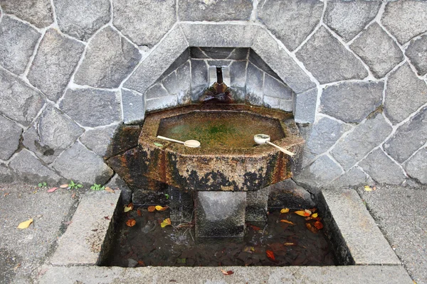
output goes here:
<path id="1" fill-rule="evenodd" d="M 252 13 L 251 0 L 179 0 L 180 21 L 248 21 Z"/>

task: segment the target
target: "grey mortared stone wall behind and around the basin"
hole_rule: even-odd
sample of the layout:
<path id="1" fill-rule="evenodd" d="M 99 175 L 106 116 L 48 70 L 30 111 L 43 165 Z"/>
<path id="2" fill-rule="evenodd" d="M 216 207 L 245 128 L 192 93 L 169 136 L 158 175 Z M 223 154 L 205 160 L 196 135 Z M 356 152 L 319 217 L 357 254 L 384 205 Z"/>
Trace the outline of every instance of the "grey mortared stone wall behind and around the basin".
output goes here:
<path id="1" fill-rule="evenodd" d="M 236 87 L 294 112 L 300 184 L 427 184 L 427 2 L 411 0 L 0 0 L 0 180 L 107 182 L 118 126 L 196 98 L 209 58 L 173 64 L 200 48 L 253 50 Z"/>

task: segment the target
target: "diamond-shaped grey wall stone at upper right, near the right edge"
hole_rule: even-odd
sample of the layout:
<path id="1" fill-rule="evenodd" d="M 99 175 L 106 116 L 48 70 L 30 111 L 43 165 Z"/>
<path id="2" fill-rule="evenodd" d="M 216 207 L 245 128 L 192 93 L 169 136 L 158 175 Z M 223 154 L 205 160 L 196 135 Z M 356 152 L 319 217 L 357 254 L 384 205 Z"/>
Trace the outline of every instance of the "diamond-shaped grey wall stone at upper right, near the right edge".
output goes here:
<path id="1" fill-rule="evenodd" d="M 359 36 L 350 48 L 369 66 L 375 77 L 384 77 L 404 60 L 399 46 L 379 26 L 373 23 Z"/>

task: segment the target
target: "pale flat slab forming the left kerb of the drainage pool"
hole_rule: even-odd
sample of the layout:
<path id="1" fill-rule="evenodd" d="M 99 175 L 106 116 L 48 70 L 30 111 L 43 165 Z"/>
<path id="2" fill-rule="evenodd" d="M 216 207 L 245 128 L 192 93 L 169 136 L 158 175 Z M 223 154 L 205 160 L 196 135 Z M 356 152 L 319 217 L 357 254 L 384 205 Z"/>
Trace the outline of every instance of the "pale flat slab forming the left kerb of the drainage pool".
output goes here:
<path id="1" fill-rule="evenodd" d="M 60 237 L 58 249 L 49 262 L 60 266 L 97 264 L 104 239 L 112 234 L 110 223 L 115 222 L 119 197 L 120 190 L 115 193 L 105 190 L 86 193 L 75 210 L 67 231 Z"/>

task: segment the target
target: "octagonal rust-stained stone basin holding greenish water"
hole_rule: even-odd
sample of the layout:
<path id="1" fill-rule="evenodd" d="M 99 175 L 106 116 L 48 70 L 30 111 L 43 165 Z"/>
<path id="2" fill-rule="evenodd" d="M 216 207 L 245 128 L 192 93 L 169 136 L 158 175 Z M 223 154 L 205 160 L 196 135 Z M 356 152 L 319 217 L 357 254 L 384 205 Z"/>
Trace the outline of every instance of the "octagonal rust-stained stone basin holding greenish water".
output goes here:
<path id="1" fill-rule="evenodd" d="M 296 153 L 292 158 L 273 146 L 256 145 L 253 136 Z M 187 148 L 157 138 L 195 139 Z M 292 177 L 303 139 L 292 114 L 245 104 L 192 104 L 148 114 L 139 136 L 142 175 L 183 190 L 259 190 Z M 156 146 L 155 143 L 162 144 Z M 159 145 L 157 144 L 157 145 Z"/>

